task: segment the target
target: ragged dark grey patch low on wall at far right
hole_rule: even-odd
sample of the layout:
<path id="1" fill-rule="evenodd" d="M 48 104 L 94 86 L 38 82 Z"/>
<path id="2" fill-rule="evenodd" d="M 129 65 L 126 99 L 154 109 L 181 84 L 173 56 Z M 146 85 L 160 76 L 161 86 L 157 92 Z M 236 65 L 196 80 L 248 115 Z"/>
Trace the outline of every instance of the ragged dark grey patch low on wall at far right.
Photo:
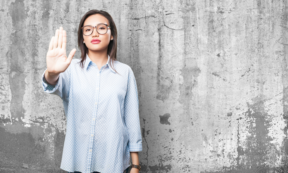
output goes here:
<path id="1" fill-rule="evenodd" d="M 266 165 L 266 161 L 270 159 L 267 153 L 269 153 L 270 150 L 274 148 L 273 144 L 270 143 L 272 139 L 270 136 L 268 136 L 268 133 L 269 133 L 268 129 L 270 127 L 270 122 L 269 120 L 267 120 L 267 117 L 270 117 L 270 115 L 266 113 L 265 106 L 264 106 L 264 99 L 262 97 L 255 97 L 252 100 L 253 100 L 253 104 L 247 103 L 247 106 L 249 107 L 249 109 L 243 113 L 245 118 L 249 120 L 247 121 L 247 123 L 249 123 L 249 125 L 247 126 L 247 129 L 251 136 L 247 136 L 246 144 L 245 144 L 248 146 L 248 148 L 245 150 L 239 144 L 239 130 L 238 130 L 238 135 L 237 135 L 238 136 L 238 147 L 237 147 L 238 157 L 236 158 L 237 165 L 235 167 L 230 167 L 230 168 L 224 167 L 219 172 L 268 173 L 271 170 L 271 168 L 269 168 L 269 166 Z M 242 119 L 242 117 L 238 118 L 237 120 L 240 120 L 240 119 Z M 239 128 L 239 124 L 238 124 L 238 128 Z M 204 134 L 202 134 L 202 138 L 205 138 Z M 249 164 L 245 163 L 246 161 L 249 161 Z"/>

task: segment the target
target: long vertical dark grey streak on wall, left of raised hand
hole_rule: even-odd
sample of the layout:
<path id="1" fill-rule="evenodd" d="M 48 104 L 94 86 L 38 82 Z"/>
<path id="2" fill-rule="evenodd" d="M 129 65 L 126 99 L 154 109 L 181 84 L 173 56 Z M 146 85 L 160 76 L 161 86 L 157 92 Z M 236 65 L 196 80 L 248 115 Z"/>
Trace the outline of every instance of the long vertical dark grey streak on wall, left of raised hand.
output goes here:
<path id="1" fill-rule="evenodd" d="M 21 0 L 16 0 L 15 3 L 11 3 L 10 5 L 10 16 L 12 18 L 13 27 L 16 30 L 12 33 L 12 45 L 8 55 L 10 58 L 10 71 L 15 72 L 13 78 L 12 73 L 9 75 L 12 94 L 10 112 L 12 117 L 17 117 L 19 120 L 21 116 L 24 117 L 24 113 L 26 112 L 22 106 L 22 100 L 26 85 L 24 81 L 26 74 L 23 72 L 26 68 L 25 64 L 27 63 L 27 60 L 25 59 L 26 54 L 24 49 L 27 49 L 26 44 L 28 40 L 27 37 L 23 37 L 23 35 L 27 34 L 25 32 L 26 27 L 23 26 L 26 25 L 25 20 L 28 17 L 27 11 L 29 11 L 29 9 L 25 9 L 25 5 Z M 32 48 L 33 46 L 31 45 L 30 47 Z"/>

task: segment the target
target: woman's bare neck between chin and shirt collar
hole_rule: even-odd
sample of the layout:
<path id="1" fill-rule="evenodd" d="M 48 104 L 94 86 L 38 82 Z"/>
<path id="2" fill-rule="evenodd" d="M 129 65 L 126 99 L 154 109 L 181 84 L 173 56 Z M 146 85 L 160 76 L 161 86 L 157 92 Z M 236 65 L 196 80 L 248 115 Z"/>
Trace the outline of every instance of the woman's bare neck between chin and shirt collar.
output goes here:
<path id="1" fill-rule="evenodd" d="M 100 51 L 88 50 L 88 57 L 91 59 L 93 63 L 97 64 L 97 66 L 101 65 L 102 67 L 108 61 L 107 49 L 103 51 L 102 50 Z"/>

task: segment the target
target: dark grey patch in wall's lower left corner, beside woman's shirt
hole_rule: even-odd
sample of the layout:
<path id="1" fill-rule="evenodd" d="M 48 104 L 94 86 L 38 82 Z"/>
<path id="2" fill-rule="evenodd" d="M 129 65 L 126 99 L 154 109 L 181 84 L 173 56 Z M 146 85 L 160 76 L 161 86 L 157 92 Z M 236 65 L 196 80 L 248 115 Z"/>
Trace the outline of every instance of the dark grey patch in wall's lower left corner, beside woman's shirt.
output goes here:
<path id="1" fill-rule="evenodd" d="M 15 128 L 15 125 L 6 125 L 5 128 Z M 29 132 L 9 133 L 0 127 L 0 172 L 22 172 L 22 173 L 48 173 L 64 172 L 60 169 L 62 151 L 64 145 L 64 132 L 56 131 L 55 138 L 49 141 L 45 136 L 38 135 L 36 138 Z M 31 126 L 26 128 L 31 131 L 42 133 L 43 128 Z M 45 129 L 49 134 L 52 131 Z M 23 130 L 21 130 L 23 131 Z M 50 150 L 46 149 L 54 144 L 53 158 L 47 155 Z M 24 168 L 23 163 L 25 167 Z"/>

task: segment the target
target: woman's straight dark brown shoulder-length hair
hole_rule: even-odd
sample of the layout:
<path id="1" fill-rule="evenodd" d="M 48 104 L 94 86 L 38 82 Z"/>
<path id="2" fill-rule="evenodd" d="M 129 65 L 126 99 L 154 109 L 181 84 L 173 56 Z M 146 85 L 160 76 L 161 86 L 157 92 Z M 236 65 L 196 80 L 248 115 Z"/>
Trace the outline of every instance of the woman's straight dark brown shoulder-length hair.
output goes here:
<path id="1" fill-rule="evenodd" d="M 79 62 L 80 67 L 82 67 L 82 68 L 84 67 L 84 62 L 86 60 L 86 54 L 88 54 L 88 48 L 83 43 L 84 38 L 83 38 L 83 33 L 82 33 L 81 28 L 83 27 L 84 21 L 89 16 L 92 16 L 94 14 L 100 14 L 101 16 L 107 18 L 107 20 L 109 22 L 108 25 L 111 26 L 110 31 L 111 31 L 111 35 L 113 36 L 113 40 L 110 40 L 110 42 L 109 42 L 107 53 L 110 56 L 109 63 L 111 65 L 111 67 L 115 70 L 114 61 L 116 60 L 116 56 L 117 56 L 117 29 L 116 29 L 113 18 L 110 16 L 109 13 L 107 13 L 103 10 L 90 10 L 89 12 L 84 14 L 84 16 L 82 17 L 82 19 L 80 21 L 79 28 L 78 28 L 78 48 L 81 50 L 81 61 Z M 115 70 L 115 72 L 116 72 L 116 70 Z"/>

